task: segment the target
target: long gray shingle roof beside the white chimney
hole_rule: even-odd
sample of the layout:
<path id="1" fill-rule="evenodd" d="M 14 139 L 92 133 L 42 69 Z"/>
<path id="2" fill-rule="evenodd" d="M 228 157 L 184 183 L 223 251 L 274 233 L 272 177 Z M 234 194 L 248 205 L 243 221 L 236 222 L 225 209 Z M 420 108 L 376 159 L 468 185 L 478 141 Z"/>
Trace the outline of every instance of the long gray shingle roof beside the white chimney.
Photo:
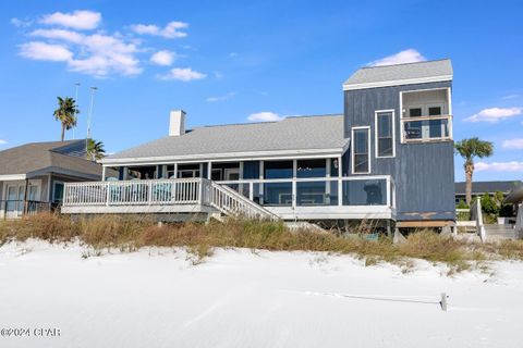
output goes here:
<path id="1" fill-rule="evenodd" d="M 278 122 L 203 126 L 108 157 L 178 157 L 257 151 L 342 149 L 343 115 L 295 116 Z"/>

